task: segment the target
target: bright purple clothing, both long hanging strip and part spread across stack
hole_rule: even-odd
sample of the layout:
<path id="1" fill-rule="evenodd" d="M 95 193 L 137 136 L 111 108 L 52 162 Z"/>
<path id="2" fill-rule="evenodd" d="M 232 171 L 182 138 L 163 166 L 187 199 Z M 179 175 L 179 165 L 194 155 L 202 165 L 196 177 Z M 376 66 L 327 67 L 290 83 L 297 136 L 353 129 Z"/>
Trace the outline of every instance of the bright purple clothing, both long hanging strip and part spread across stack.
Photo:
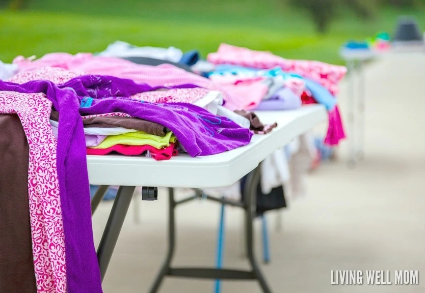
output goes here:
<path id="1" fill-rule="evenodd" d="M 0 80 L 0 91 L 44 93 L 60 113 L 57 168 L 68 293 L 102 292 L 93 241 L 86 144 L 80 106 L 82 113 L 122 111 L 160 123 L 174 132 L 191 156 L 221 153 L 246 145 L 251 140 L 252 133 L 248 129 L 194 105 L 151 104 L 111 98 L 126 98 L 152 89 L 147 84 L 109 76 L 77 77 L 61 86 L 45 80 L 21 85 Z"/>

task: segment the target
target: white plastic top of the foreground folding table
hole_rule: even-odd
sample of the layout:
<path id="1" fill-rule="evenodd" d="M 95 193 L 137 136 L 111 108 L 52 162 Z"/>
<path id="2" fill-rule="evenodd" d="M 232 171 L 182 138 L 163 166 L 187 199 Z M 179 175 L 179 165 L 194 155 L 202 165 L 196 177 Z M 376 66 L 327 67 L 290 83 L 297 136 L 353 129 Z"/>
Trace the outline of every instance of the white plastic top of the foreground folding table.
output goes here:
<path id="1" fill-rule="evenodd" d="M 229 152 L 192 158 L 179 154 L 155 161 L 138 156 L 87 156 L 89 181 L 95 185 L 211 188 L 240 180 L 276 149 L 327 118 L 321 105 L 291 111 L 256 111 L 262 123 L 277 122 L 268 134 L 255 134 L 251 143 Z"/>

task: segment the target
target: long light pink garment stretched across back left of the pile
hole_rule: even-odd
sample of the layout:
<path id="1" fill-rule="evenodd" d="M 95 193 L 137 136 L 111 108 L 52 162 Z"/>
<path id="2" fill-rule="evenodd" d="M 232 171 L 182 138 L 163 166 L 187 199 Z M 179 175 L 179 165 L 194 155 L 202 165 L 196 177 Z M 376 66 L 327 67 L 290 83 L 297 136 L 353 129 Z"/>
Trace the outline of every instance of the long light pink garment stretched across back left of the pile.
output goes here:
<path id="1" fill-rule="evenodd" d="M 20 72 L 50 66 L 89 74 L 126 78 L 151 86 L 194 84 L 204 89 L 222 92 L 225 100 L 229 98 L 229 94 L 225 90 L 208 78 L 170 64 L 139 65 L 120 58 L 93 56 L 91 53 L 78 53 L 76 55 L 50 53 L 35 61 L 18 56 L 13 63 L 18 65 Z"/>

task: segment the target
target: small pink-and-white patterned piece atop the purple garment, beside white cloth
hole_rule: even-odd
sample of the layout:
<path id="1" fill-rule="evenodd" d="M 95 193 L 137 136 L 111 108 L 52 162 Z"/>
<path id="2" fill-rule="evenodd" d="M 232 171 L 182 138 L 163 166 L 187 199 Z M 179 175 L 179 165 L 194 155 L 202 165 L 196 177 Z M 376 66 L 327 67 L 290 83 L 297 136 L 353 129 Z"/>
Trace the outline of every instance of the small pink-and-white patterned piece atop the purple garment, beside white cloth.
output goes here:
<path id="1" fill-rule="evenodd" d="M 205 97 L 210 91 L 195 87 L 193 89 L 173 89 L 168 91 L 144 92 L 130 96 L 130 99 L 150 103 L 194 103 Z"/>

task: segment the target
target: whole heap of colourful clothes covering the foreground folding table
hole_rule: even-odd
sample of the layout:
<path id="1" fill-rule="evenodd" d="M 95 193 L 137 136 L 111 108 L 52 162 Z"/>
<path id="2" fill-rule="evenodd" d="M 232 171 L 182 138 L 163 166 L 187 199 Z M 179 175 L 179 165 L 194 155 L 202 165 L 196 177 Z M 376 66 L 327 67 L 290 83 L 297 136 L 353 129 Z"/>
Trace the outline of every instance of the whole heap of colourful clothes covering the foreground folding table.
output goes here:
<path id="1" fill-rule="evenodd" d="M 8 202 L 0 206 L 0 239 L 10 239 L 0 243 L 0 291 L 102 291 L 87 155 L 219 154 L 277 127 L 253 110 L 307 103 L 326 106 L 325 141 L 337 144 L 344 133 L 335 95 L 345 73 L 226 44 L 206 60 L 196 50 L 115 42 L 99 53 L 0 63 L 0 198 Z M 287 180 L 288 159 L 300 173 L 311 155 L 299 154 L 311 154 L 313 144 L 302 136 L 292 151 L 268 158 L 262 192 Z"/>

